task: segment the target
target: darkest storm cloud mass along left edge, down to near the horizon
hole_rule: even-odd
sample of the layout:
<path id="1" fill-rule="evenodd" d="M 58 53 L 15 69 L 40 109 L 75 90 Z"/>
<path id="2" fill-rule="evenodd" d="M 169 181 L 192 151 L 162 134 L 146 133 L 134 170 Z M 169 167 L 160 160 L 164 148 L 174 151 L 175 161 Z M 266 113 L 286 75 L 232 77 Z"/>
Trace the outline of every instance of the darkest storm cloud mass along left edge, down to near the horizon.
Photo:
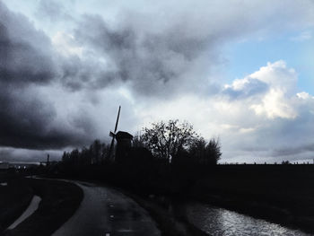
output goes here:
<path id="1" fill-rule="evenodd" d="M 60 148 L 89 140 L 86 118 L 70 127 L 57 124 L 57 110 L 36 86 L 56 81 L 57 66 L 50 40 L 24 16 L 0 3 L 0 145 Z M 83 119 L 83 118 L 81 118 Z"/>

